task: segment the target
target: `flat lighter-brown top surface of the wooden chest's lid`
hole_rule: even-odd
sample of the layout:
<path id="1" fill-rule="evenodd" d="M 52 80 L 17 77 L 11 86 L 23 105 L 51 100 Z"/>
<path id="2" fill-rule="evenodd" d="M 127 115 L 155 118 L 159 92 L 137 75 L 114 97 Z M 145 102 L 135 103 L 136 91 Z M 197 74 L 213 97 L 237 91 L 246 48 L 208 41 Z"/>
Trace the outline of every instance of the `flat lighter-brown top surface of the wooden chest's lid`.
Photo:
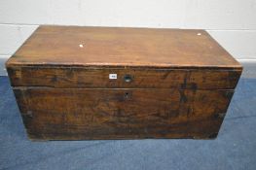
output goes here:
<path id="1" fill-rule="evenodd" d="M 240 68 L 203 30 L 40 26 L 8 65 Z"/>

